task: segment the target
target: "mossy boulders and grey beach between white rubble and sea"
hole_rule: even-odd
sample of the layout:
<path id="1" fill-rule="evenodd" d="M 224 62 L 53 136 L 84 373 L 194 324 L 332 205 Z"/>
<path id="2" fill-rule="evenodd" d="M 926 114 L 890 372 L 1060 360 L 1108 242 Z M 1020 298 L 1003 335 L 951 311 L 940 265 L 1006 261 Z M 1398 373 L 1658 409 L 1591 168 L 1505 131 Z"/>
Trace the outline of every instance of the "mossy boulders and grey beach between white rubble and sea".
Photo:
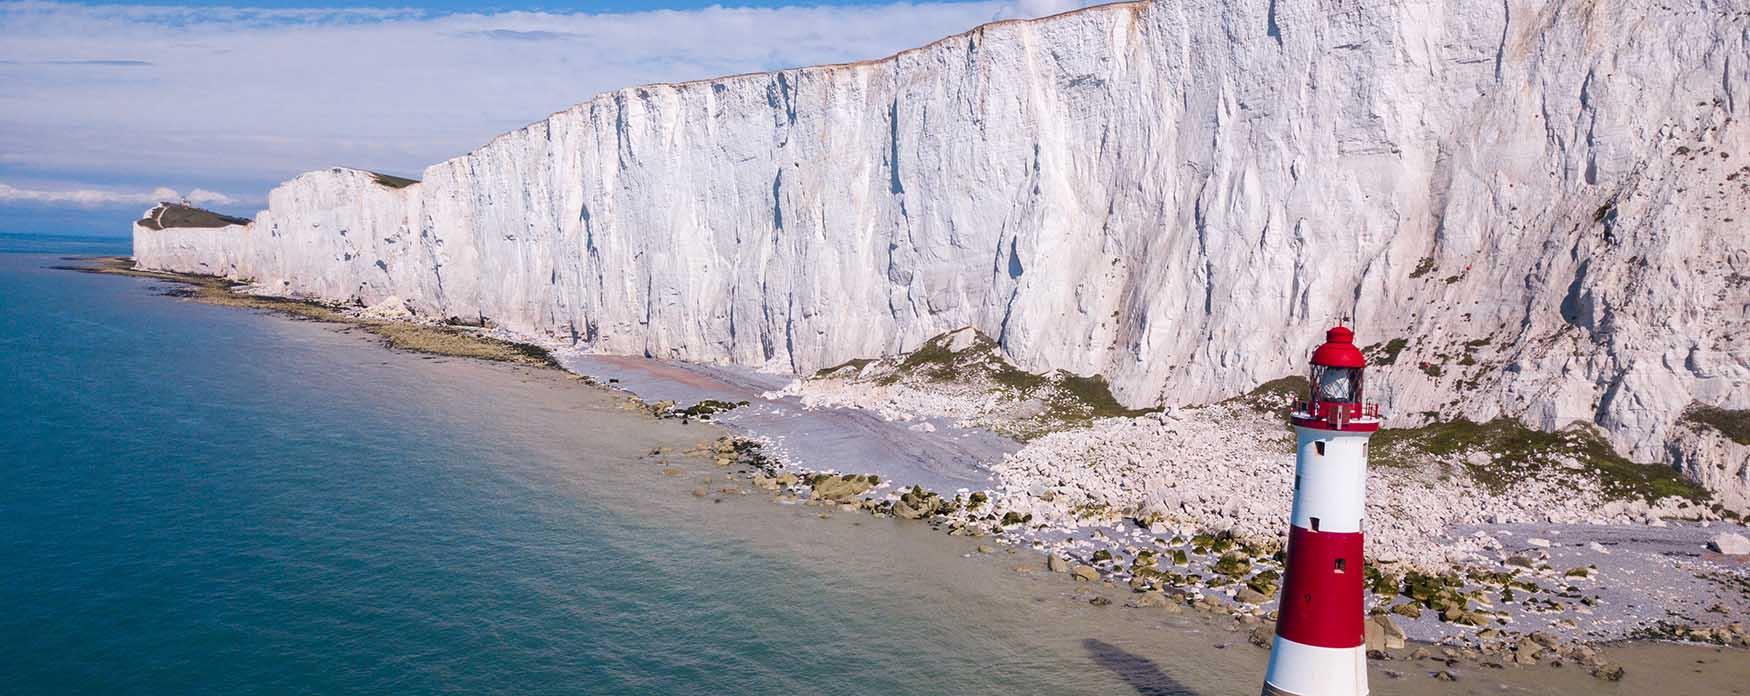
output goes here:
<path id="1" fill-rule="evenodd" d="M 1230 533 L 1199 532 L 1195 525 L 1167 521 L 1155 521 L 1146 528 L 1136 519 L 1041 523 L 1006 509 L 1010 497 L 1001 493 L 938 495 L 861 474 L 798 474 L 780 462 L 760 456 L 751 442 L 735 439 L 700 448 L 700 453 L 719 469 L 740 463 L 747 470 L 737 486 L 702 486 L 695 495 L 766 491 L 784 504 L 919 519 L 950 535 L 990 535 L 1045 551 L 1036 568 L 1017 570 L 1062 574 L 1066 581 L 1113 589 L 1127 588 L 1132 593 L 1127 607 L 1194 607 L 1230 614 L 1260 630 L 1267 630 L 1274 616 L 1283 568 L 1281 556 L 1272 553 L 1269 542 L 1248 542 Z M 740 484 L 747 488 L 738 488 Z M 1634 526 L 1642 525 L 1498 526 L 1491 533 L 1470 537 L 1479 540 L 1477 549 L 1484 553 L 1468 558 L 1472 563 L 1458 574 L 1421 574 L 1405 561 L 1370 565 L 1367 582 L 1374 591 L 1368 603 L 1376 614 L 1368 621 L 1382 631 L 1377 644 L 1370 631 L 1368 647 L 1376 649 L 1377 659 L 1418 659 L 1416 654 L 1423 654 L 1433 659 L 1512 665 L 1572 661 L 1586 668 L 1605 668 L 1596 654 L 1578 644 L 1661 637 L 1750 645 L 1743 623 L 1731 623 L 1731 616 L 1743 612 L 1743 598 L 1732 589 L 1732 582 L 1746 581 L 1743 568 L 1732 570 L 1729 563 L 1712 560 L 1666 558 L 1670 544 L 1648 553 L 1636 547 L 1634 539 L 1640 535 L 1634 533 L 1622 540 L 1586 537 L 1591 528 Z M 1689 532 L 1696 537 L 1694 546 L 1701 547 L 1704 537 L 1694 532 L 1706 530 Z M 1536 533 L 1550 539 L 1535 537 Z M 1586 539 L 1605 539 L 1615 549 L 1608 568 L 1577 565 L 1584 563 L 1575 560 L 1580 556 L 1598 560 L 1600 553 L 1612 554 L 1603 544 Z M 984 551 L 989 546 L 980 549 L 989 553 Z M 1648 563 L 1647 556 L 1656 560 Z M 1710 572 L 1720 577 L 1696 579 Z M 1673 577 L 1689 577 L 1692 582 L 1671 582 Z M 1708 591 L 1708 582 L 1720 582 L 1720 588 Z M 1690 621 L 1680 619 L 1685 616 Z M 1391 635 L 1400 638 L 1390 638 Z M 1440 645 L 1435 652 L 1412 652 L 1402 642 L 1404 637 Z M 1524 645 L 1526 640 L 1535 645 Z"/>

